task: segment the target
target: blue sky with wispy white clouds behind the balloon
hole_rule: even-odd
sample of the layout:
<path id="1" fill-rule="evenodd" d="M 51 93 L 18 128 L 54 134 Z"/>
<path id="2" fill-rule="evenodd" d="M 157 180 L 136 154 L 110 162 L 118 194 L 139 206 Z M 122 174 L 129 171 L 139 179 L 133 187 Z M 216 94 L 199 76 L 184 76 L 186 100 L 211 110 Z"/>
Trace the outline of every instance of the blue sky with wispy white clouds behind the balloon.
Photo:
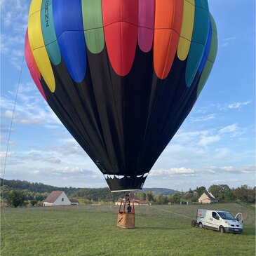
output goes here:
<path id="1" fill-rule="evenodd" d="M 30 1 L 0 3 L 1 177 L 58 187 L 107 187 L 29 74 L 24 43 Z M 144 187 L 255 186 L 255 0 L 208 3 L 218 33 L 215 65 Z"/>

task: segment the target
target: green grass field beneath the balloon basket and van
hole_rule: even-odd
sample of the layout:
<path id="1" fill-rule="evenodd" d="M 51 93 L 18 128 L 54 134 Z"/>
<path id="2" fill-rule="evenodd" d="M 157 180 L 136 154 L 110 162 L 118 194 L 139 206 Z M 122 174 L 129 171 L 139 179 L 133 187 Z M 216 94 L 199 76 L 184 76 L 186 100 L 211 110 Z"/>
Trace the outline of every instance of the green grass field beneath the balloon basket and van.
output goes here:
<path id="1" fill-rule="evenodd" d="M 198 207 L 243 213 L 243 234 L 192 228 L 189 217 Z M 137 206 L 135 229 L 116 227 L 117 211 L 105 205 L 5 208 L 1 255 L 255 255 L 255 208 L 250 205 Z"/>

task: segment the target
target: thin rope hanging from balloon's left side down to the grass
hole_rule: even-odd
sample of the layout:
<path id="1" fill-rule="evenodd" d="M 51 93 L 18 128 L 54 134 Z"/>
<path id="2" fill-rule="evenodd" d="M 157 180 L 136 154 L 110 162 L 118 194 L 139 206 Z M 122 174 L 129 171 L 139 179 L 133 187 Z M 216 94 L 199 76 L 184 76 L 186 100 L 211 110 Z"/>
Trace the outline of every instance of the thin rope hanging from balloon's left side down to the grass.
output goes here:
<path id="1" fill-rule="evenodd" d="M 19 90 L 19 87 L 20 87 L 20 78 L 21 78 L 21 74 L 22 74 L 23 63 L 24 63 L 24 55 L 23 55 L 23 58 L 22 58 L 22 65 L 21 65 L 21 69 L 20 69 L 18 87 L 17 87 L 17 91 L 16 91 L 16 95 L 15 95 L 15 101 L 14 101 L 14 105 L 13 105 L 13 115 L 11 117 L 11 125 L 10 125 L 10 130 L 9 130 L 9 135 L 8 135 L 7 148 L 6 148 L 6 157 L 4 159 L 3 182 L 2 182 L 2 184 L 3 184 L 3 191 L 2 191 L 2 194 L 3 194 L 3 215 L 4 215 L 4 221 L 6 222 L 6 224 L 8 224 L 8 226 L 10 226 L 10 224 L 7 222 L 6 214 L 4 212 L 4 177 L 5 177 L 5 174 L 6 174 L 6 161 L 7 161 L 8 149 L 9 149 L 10 138 L 11 138 L 11 129 L 13 128 L 13 118 L 14 118 L 14 112 L 15 112 L 17 97 L 18 97 L 18 90 Z"/>

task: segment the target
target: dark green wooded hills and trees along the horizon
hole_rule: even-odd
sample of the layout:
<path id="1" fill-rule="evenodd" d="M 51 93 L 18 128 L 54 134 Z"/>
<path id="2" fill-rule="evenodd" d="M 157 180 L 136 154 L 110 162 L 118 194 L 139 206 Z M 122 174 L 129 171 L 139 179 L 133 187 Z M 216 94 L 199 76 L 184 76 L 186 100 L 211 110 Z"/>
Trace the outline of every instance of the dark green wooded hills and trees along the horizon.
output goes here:
<path id="1" fill-rule="evenodd" d="M 33 183 L 20 180 L 1 179 L 1 199 L 9 206 L 41 206 L 42 201 L 53 190 L 65 191 L 69 198 L 77 198 L 82 203 L 114 203 L 126 196 L 126 192 L 111 193 L 110 189 L 87 189 L 74 187 L 54 187 L 42 183 Z M 151 201 L 156 204 L 189 203 L 198 202 L 198 198 L 206 191 L 206 187 L 196 187 L 186 192 L 176 192 L 171 195 L 153 194 L 152 191 L 136 192 L 136 197 L 140 200 Z M 255 187 L 243 185 L 237 188 L 230 188 L 227 184 L 213 184 L 208 191 L 220 202 L 244 202 L 255 203 Z"/>

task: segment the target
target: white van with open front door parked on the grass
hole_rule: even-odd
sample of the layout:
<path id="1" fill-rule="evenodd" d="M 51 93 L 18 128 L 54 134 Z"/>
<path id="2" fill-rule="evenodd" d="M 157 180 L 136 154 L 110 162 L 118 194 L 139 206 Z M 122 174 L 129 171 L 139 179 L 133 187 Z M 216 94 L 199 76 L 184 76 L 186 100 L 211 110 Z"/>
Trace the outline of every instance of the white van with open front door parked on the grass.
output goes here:
<path id="1" fill-rule="evenodd" d="M 214 229 L 222 233 L 241 234 L 243 232 L 242 213 L 238 213 L 236 217 L 233 217 L 231 213 L 222 210 L 198 209 L 196 222 L 198 227 Z"/>

